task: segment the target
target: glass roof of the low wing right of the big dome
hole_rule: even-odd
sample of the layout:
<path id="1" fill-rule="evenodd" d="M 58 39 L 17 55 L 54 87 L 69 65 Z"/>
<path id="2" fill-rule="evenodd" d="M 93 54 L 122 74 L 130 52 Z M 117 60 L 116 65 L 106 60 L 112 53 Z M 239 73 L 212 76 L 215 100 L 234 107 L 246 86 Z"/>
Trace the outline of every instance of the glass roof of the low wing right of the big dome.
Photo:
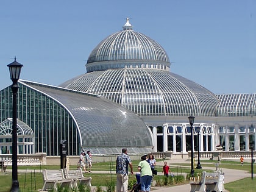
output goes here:
<path id="1" fill-rule="evenodd" d="M 218 116 L 255 116 L 256 94 L 217 94 Z"/>

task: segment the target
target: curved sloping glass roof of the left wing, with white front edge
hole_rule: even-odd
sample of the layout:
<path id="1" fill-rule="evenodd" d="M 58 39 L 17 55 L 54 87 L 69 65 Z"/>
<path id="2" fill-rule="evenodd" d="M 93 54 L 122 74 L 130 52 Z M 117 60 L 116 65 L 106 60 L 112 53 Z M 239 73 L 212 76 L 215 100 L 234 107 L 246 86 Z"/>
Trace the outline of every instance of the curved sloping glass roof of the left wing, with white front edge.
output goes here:
<path id="1" fill-rule="evenodd" d="M 82 146 L 152 146 L 148 127 L 135 113 L 105 98 L 20 80 L 63 105 L 73 116 Z"/>

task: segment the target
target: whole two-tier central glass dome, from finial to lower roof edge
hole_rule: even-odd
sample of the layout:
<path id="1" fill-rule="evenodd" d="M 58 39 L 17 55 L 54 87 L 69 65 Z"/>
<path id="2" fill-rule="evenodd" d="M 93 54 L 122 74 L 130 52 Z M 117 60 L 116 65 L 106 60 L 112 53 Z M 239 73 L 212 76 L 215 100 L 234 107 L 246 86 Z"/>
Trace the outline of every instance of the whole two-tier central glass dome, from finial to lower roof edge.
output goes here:
<path id="1" fill-rule="evenodd" d="M 215 116 L 218 98 L 201 85 L 169 72 L 168 55 L 127 19 L 93 49 L 87 72 L 60 87 L 97 94 L 140 116 Z"/>

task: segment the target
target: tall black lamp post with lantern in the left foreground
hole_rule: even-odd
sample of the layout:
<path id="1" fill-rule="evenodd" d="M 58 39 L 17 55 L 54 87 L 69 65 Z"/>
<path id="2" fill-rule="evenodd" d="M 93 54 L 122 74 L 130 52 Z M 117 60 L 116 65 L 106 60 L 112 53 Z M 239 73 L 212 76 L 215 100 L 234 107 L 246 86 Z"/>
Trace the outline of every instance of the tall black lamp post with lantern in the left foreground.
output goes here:
<path id="1" fill-rule="evenodd" d="M 20 79 L 21 68 L 23 65 L 14 62 L 7 65 L 10 71 L 10 79 L 12 79 L 12 188 L 11 192 L 19 192 L 20 186 L 18 182 L 18 166 L 17 166 L 17 91 L 18 80 Z"/>

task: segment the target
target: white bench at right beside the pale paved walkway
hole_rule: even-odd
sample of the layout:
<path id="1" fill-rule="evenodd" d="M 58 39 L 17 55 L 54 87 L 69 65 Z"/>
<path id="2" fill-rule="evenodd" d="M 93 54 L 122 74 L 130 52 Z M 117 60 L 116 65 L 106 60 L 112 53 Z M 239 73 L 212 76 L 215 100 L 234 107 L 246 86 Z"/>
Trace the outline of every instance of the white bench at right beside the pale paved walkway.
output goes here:
<path id="1" fill-rule="evenodd" d="M 202 172 L 202 178 L 199 182 L 190 182 L 190 192 L 195 191 L 217 191 L 224 190 L 224 175 L 221 172 Z"/>

